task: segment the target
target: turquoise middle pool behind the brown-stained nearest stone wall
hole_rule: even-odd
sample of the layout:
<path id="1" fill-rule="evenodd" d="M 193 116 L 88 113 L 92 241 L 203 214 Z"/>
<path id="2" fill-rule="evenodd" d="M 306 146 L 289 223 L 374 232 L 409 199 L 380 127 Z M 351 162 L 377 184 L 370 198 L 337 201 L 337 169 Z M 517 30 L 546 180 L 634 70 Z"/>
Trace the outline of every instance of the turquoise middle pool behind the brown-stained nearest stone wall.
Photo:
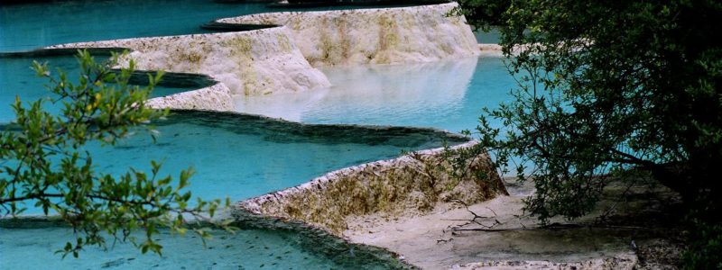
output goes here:
<path id="1" fill-rule="evenodd" d="M 180 112 L 179 112 L 180 113 Z M 323 134 L 292 123 L 234 114 L 185 112 L 159 125 L 153 144 L 135 136 L 116 148 L 91 150 L 98 170 L 121 173 L 134 166 L 150 171 L 149 159 L 164 160 L 161 173 L 193 166 L 194 196 L 234 202 L 309 181 L 329 171 L 398 156 L 403 149 L 440 147 L 439 133 L 328 127 Z M 117 158 L 123 157 L 123 158 Z"/>

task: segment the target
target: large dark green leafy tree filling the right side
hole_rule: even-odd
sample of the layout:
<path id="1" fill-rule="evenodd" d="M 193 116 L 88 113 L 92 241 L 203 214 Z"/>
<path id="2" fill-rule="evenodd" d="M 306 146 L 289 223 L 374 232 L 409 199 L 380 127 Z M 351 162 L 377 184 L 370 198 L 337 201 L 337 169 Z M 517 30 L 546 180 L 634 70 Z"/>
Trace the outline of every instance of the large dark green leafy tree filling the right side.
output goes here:
<path id="1" fill-rule="evenodd" d="M 719 266 L 722 3 L 507 3 L 491 23 L 504 26 L 501 45 L 520 86 L 512 102 L 486 111 L 478 131 L 496 166 L 514 161 L 519 177 L 534 181 L 527 210 L 542 221 L 576 218 L 610 179 L 653 178 L 707 224 L 697 239 L 708 242 L 691 246 L 688 263 Z M 461 4 L 465 14 L 496 6 Z"/>

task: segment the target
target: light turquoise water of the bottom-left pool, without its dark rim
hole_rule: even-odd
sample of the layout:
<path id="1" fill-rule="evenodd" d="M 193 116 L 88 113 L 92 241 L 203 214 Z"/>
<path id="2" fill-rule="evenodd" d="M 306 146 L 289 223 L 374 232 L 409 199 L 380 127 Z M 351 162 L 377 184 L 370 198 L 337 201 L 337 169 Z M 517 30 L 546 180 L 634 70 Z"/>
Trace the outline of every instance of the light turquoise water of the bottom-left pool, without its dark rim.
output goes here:
<path id="1" fill-rule="evenodd" d="M 135 247 L 117 244 L 106 252 L 87 247 L 80 258 L 60 260 L 54 252 L 73 233 L 64 228 L 0 229 L 2 269 L 320 269 L 338 267 L 332 261 L 299 247 L 293 235 L 268 230 L 229 234 L 215 231 L 203 247 L 190 233 L 181 237 L 162 232 L 157 238 L 165 248 L 163 257 L 141 255 Z M 142 236 L 138 236 L 139 238 Z M 26 258 L 26 259 L 10 259 Z M 32 258 L 32 259 L 31 259 Z"/>

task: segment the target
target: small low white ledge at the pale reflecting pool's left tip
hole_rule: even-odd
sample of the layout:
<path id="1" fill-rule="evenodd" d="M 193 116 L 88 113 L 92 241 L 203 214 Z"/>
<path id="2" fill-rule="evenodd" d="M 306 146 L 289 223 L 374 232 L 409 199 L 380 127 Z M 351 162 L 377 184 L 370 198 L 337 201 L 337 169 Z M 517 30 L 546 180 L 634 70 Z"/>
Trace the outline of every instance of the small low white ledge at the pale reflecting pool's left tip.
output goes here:
<path id="1" fill-rule="evenodd" d="M 154 109 L 182 109 L 205 111 L 233 111 L 231 90 L 223 83 L 210 85 L 194 91 L 156 97 L 145 103 Z"/>

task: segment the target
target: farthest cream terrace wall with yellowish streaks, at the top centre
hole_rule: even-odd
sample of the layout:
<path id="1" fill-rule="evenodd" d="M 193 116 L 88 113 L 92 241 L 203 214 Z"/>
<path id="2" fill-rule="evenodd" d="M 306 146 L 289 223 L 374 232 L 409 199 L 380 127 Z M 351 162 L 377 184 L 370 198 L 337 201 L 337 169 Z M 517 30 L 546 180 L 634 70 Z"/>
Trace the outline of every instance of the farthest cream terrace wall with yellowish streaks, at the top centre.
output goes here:
<path id="1" fill-rule="evenodd" d="M 382 9 L 252 14 L 216 23 L 282 24 L 311 65 L 397 64 L 478 55 L 456 3 Z"/>

